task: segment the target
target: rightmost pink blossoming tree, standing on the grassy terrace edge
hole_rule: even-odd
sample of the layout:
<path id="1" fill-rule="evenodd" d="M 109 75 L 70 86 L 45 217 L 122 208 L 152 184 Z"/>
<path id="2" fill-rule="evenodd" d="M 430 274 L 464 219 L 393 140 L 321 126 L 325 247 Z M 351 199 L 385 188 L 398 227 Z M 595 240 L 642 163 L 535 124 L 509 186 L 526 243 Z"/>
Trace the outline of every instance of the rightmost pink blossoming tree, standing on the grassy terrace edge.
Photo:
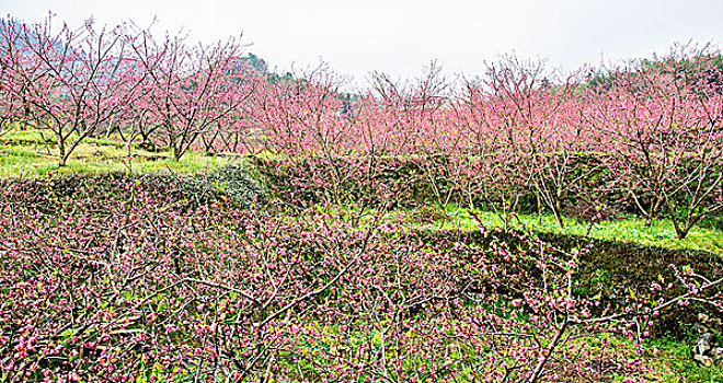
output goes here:
<path id="1" fill-rule="evenodd" d="M 668 217 L 679 239 L 723 207 L 723 83 L 711 55 L 678 48 L 654 65 L 632 62 L 590 101 L 616 178 L 642 213 Z"/>

